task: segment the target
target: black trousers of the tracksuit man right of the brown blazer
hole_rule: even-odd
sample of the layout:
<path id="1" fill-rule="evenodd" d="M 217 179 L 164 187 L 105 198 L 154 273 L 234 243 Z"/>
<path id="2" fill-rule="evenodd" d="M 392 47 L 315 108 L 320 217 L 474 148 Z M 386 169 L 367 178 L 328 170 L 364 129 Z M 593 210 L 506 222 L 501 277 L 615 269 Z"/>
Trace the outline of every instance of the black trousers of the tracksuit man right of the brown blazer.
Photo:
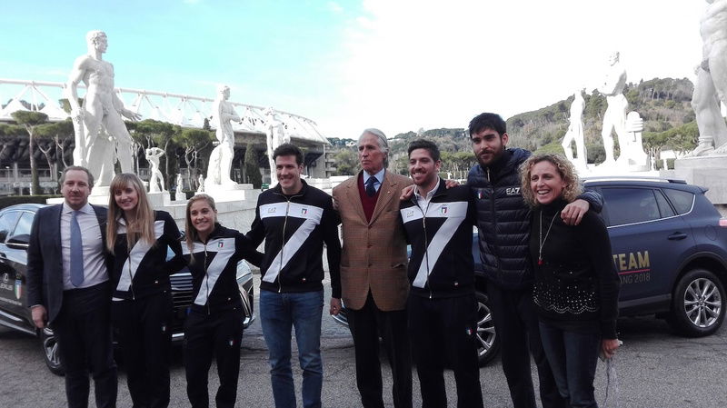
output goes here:
<path id="1" fill-rule="evenodd" d="M 457 407 L 482 408 L 474 294 L 443 299 L 409 294 L 407 311 L 422 407 L 449 406 L 444 367 L 451 367 L 457 384 Z"/>

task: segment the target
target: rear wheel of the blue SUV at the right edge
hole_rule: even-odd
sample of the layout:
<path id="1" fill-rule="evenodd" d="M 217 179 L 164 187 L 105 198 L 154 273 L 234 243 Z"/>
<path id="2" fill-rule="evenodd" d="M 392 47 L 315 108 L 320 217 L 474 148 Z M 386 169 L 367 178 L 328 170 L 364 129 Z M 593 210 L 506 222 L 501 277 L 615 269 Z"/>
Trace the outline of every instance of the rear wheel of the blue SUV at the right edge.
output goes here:
<path id="1" fill-rule="evenodd" d="M 676 285 L 668 322 L 686 336 L 712 334 L 724 320 L 725 301 L 727 296 L 717 276 L 705 269 L 693 269 Z"/>

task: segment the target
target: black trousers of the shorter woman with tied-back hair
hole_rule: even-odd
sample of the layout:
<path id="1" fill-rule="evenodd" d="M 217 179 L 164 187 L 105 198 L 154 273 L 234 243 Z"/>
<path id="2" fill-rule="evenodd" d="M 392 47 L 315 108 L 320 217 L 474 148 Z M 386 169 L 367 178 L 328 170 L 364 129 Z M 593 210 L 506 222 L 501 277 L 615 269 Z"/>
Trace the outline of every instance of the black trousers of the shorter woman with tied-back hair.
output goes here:
<path id="1" fill-rule="evenodd" d="M 220 377 L 214 402 L 217 408 L 234 407 L 240 373 L 243 319 L 242 306 L 211 314 L 192 311 L 187 315 L 184 322 L 184 371 L 187 396 L 193 408 L 209 406 L 207 374 L 213 353 Z"/>

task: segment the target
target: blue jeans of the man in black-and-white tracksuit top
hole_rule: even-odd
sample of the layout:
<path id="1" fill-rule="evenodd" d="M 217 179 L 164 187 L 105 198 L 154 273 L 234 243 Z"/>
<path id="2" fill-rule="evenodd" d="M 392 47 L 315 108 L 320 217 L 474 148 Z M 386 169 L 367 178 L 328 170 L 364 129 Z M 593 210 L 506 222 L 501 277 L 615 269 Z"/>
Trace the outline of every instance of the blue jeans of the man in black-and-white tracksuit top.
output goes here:
<path id="1" fill-rule="evenodd" d="M 270 381 L 276 408 L 295 407 L 291 370 L 291 329 L 295 327 L 298 360 L 303 369 L 303 406 L 321 406 L 324 367 L 321 360 L 321 316 L 324 291 L 277 294 L 260 291 L 260 323 L 270 352 Z"/>

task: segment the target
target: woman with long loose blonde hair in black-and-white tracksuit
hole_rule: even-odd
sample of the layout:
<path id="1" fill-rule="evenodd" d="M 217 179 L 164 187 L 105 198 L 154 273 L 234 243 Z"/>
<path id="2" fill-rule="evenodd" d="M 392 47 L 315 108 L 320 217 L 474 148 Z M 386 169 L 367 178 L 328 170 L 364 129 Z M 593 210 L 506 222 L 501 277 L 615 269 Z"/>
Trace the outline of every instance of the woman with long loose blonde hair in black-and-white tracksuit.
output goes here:
<path id="1" fill-rule="evenodd" d="M 174 219 L 154 211 L 135 174 L 109 188 L 106 244 L 114 254 L 112 319 L 134 407 L 169 405 L 172 293 L 169 275 L 184 266 Z M 167 247 L 177 256 L 166 261 Z"/>

